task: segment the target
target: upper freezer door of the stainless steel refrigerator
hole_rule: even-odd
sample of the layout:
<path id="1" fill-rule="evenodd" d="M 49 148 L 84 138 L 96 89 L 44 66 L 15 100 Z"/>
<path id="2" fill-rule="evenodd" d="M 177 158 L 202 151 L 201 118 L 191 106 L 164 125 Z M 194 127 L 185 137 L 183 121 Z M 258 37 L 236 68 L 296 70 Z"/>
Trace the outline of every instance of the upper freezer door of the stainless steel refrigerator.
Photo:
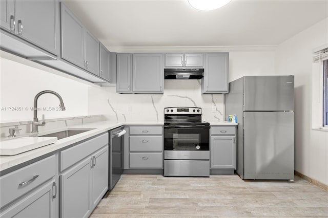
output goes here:
<path id="1" fill-rule="evenodd" d="M 294 76 L 245 76 L 244 111 L 294 111 Z"/>

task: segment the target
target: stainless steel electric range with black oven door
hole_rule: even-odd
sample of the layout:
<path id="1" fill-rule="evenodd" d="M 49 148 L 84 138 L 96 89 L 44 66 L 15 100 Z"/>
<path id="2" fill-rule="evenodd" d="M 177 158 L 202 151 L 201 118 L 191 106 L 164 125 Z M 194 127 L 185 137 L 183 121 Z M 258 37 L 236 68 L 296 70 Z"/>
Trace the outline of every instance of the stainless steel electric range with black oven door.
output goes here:
<path id="1" fill-rule="evenodd" d="M 210 176 L 210 124 L 200 107 L 166 107 L 164 176 Z"/>

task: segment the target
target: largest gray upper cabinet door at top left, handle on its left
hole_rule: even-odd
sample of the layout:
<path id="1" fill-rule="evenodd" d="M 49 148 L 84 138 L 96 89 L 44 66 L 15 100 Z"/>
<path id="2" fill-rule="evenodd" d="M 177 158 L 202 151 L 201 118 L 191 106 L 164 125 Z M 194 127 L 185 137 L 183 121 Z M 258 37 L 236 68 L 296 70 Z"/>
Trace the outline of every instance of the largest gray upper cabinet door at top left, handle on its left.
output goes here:
<path id="1" fill-rule="evenodd" d="M 59 2 L 15 1 L 16 34 L 55 55 L 59 54 Z"/>

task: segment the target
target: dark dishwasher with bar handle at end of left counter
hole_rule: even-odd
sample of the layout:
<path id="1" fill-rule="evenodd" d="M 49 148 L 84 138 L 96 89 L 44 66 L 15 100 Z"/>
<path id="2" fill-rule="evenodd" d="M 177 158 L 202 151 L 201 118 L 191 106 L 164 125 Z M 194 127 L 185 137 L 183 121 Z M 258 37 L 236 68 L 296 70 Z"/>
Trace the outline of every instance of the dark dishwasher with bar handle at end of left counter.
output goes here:
<path id="1" fill-rule="evenodd" d="M 120 179 L 124 164 L 124 127 L 118 127 L 109 131 L 109 180 L 108 189 L 112 190 Z"/>

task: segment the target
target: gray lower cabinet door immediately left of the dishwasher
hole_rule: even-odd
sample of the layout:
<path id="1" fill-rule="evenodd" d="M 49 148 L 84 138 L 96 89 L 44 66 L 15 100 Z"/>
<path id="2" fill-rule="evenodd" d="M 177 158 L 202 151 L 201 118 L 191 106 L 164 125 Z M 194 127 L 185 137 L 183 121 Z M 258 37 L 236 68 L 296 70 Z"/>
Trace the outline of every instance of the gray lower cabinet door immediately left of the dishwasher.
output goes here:
<path id="1" fill-rule="evenodd" d="M 97 206 L 108 190 L 108 146 L 93 155 L 93 168 L 91 169 L 91 208 Z"/>

